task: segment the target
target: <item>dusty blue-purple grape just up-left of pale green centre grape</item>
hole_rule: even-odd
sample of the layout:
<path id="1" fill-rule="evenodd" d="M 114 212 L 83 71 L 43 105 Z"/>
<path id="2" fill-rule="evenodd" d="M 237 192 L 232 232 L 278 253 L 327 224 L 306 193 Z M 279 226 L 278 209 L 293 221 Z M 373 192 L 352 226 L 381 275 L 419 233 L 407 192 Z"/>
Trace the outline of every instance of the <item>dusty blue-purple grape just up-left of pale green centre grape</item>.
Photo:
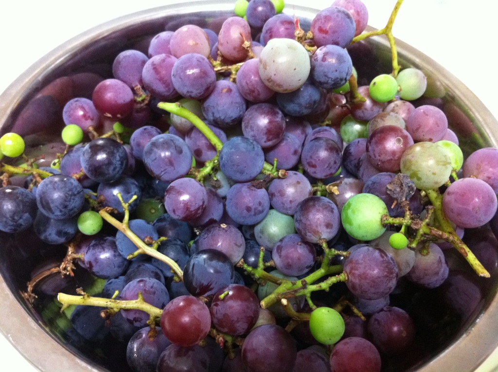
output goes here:
<path id="1" fill-rule="evenodd" d="M 270 199 L 264 188 L 255 188 L 250 183 L 235 184 L 228 190 L 225 208 L 237 223 L 254 225 L 268 213 Z"/>

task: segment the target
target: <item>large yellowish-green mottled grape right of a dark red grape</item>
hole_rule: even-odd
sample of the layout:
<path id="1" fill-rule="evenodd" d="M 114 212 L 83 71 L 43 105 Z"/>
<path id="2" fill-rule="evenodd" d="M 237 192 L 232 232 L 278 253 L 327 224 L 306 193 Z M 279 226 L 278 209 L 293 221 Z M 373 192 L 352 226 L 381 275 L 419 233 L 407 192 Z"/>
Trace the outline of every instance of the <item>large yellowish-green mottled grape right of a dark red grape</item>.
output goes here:
<path id="1" fill-rule="evenodd" d="M 418 142 L 404 152 L 401 173 L 421 190 L 435 189 L 448 181 L 452 165 L 446 151 L 432 142 Z"/>

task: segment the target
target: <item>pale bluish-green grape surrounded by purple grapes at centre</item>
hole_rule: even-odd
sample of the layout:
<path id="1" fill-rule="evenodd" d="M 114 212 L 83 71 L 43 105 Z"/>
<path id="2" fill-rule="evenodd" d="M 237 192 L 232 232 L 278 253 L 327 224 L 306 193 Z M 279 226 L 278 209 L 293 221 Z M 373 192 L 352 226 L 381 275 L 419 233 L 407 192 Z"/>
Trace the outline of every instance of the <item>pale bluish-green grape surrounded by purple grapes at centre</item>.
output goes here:
<path id="1" fill-rule="evenodd" d="M 295 232 L 294 218 L 276 209 L 270 209 L 261 222 L 254 226 L 257 242 L 268 249 L 284 236 Z"/>

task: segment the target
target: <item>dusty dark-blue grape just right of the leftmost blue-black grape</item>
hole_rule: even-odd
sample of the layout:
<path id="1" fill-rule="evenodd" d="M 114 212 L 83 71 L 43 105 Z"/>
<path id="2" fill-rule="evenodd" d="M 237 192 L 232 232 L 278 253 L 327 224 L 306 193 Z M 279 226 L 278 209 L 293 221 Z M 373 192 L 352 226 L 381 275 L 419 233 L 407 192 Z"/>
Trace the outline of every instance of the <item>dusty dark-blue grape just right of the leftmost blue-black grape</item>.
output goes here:
<path id="1" fill-rule="evenodd" d="M 84 202 L 83 186 L 65 175 L 50 176 L 36 189 L 38 209 L 50 218 L 71 218 L 83 208 Z"/>

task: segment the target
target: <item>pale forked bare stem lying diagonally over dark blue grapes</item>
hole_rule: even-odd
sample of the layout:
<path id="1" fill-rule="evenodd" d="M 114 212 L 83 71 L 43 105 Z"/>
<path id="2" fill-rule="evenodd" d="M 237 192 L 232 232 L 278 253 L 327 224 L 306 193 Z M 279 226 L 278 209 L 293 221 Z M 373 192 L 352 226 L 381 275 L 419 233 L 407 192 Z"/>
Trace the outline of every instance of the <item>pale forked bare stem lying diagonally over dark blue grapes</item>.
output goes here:
<path id="1" fill-rule="evenodd" d="M 118 195 L 120 195 L 120 197 L 121 197 L 121 194 L 118 193 Z M 124 218 L 123 222 L 117 220 L 109 213 L 111 210 L 113 210 L 112 208 L 109 208 L 109 207 L 103 208 L 99 211 L 99 214 L 107 222 L 109 222 L 111 225 L 113 225 L 118 230 L 120 230 L 122 233 L 124 233 L 124 235 L 126 235 L 126 237 L 129 240 L 131 240 L 131 242 L 133 244 L 135 244 L 136 247 L 138 248 L 134 253 L 131 253 L 128 256 L 128 259 L 132 259 L 132 258 L 138 256 L 139 254 L 146 254 L 148 256 L 151 256 L 153 258 L 158 259 L 161 262 L 164 262 L 166 265 L 171 267 L 172 272 L 176 276 L 178 276 L 178 278 L 181 281 L 183 281 L 183 271 L 180 268 L 180 266 L 178 266 L 178 264 L 174 260 L 169 258 L 168 256 L 157 251 L 157 247 L 159 246 L 159 243 L 161 241 L 163 241 L 165 238 L 154 241 L 152 244 L 152 247 L 149 247 L 147 244 L 145 244 L 145 242 L 142 239 L 140 239 L 133 231 L 130 230 L 130 228 L 128 226 L 128 220 L 126 218 L 126 212 L 129 213 L 129 210 L 128 210 L 127 204 L 124 203 L 124 205 L 126 205 L 126 207 L 124 208 L 125 218 Z M 129 205 L 129 203 L 128 203 L 128 205 Z"/>

